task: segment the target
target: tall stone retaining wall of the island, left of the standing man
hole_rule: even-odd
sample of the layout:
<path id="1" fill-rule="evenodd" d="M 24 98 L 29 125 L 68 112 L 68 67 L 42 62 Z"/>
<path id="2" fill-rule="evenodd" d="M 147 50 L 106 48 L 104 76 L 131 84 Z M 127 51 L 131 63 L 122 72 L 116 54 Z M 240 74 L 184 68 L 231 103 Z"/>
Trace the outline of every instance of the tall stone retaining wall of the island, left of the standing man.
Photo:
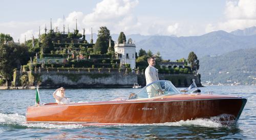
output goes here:
<path id="1" fill-rule="evenodd" d="M 28 75 L 28 82 L 20 83 L 20 77 Z M 134 72 L 86 72 L 86 71 L 41 71 L 16 72 L 15 86 L 35 86 L 41 88 L 132 88 L 137 83 Z"/>

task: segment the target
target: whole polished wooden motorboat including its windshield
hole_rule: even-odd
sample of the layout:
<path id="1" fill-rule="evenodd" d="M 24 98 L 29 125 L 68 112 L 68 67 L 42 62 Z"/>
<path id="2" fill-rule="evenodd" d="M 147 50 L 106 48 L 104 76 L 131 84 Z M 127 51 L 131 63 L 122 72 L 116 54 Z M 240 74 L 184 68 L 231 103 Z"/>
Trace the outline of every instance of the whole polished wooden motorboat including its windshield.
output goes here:
<path id="1" fill-rule="evenodd" d="M 155 94 L 154 97 L 149 98 L 150 92 L 151 96 Z M 222 116 L 220 121 L 236 122 L 246 101 L 246 98 L 230 95 L 181 94 L 172 82 L 160 80 L 128 97 L 109 101 L 29 106 L 26 121 L 27 123 L 124 125 Z"/>

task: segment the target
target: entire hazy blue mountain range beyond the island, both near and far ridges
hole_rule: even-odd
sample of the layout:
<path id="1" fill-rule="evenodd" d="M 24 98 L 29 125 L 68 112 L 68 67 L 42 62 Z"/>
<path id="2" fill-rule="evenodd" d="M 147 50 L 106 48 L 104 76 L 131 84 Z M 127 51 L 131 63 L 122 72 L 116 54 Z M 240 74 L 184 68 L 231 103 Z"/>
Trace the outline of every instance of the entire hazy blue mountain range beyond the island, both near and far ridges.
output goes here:
<path id="1" fill-rule="evenodd" d="M 117 41 L 119 34 L 112 34 Z M 87 35 L 90 37 L 90 35 Z M 93 34 L 94 42 L 97 35 Z M 236 30 L 210 32 L 201 36 L 143 36 L 126 35 L 132 38 L 136 51 L 140 48 L 153 53 L 160 52 L 164 60 L 187 59 L 194 51 L 200 61 L 199 73 L 203 82 L 243 84 L 256 83 L 256 27 Z"/>

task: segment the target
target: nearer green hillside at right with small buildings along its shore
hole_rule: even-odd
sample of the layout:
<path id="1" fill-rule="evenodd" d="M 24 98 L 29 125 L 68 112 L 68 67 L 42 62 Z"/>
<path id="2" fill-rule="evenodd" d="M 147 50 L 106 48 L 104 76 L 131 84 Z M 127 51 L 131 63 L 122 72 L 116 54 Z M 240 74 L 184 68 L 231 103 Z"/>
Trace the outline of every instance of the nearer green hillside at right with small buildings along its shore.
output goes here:
<path id="1" fill-rule="evenodd" d="M 239 49 L 200 59 L 201 81 L 256 84 L 256 48 Z"/>

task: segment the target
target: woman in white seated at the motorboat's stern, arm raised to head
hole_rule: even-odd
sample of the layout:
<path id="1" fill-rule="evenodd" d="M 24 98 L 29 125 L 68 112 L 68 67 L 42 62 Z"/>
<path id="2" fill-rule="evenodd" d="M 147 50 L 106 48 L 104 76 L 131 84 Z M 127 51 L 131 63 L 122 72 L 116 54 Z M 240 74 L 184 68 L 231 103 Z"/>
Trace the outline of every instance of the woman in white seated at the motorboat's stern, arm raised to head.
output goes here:
<path id="1" fill-rule="evenodd" d="M 55 90 L 55 92 L 52 95 L 58 104 L 70 103 L 69 98 L 65 97 L 65 89 L 63 87 Z"/>

